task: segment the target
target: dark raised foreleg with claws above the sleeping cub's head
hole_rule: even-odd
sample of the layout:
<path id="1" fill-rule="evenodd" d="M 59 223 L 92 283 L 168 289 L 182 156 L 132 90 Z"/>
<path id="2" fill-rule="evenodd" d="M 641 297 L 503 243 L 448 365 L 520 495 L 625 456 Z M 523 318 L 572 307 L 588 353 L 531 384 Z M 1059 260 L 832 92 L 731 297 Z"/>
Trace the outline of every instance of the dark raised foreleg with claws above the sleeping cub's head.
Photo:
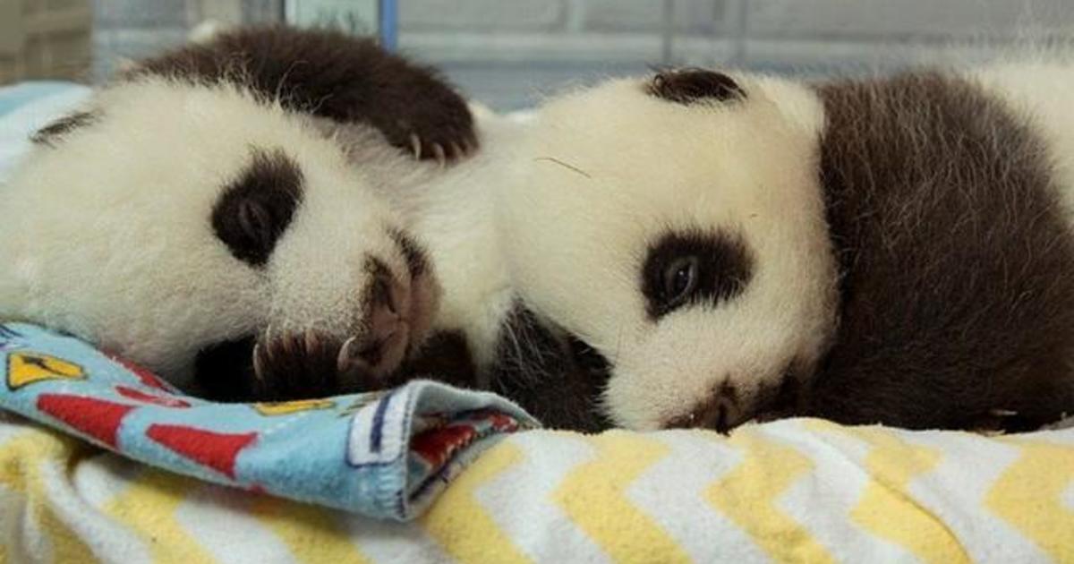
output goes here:
<path id="1" fill-rule="evenodd" d="M 455 158 L 477 146 L 465 100 L 439 73 L 339 31 L 237 29 L 141 61 L 125 74 L 235 82 L 291 110 L 368 124 L 421 158 Z"/>

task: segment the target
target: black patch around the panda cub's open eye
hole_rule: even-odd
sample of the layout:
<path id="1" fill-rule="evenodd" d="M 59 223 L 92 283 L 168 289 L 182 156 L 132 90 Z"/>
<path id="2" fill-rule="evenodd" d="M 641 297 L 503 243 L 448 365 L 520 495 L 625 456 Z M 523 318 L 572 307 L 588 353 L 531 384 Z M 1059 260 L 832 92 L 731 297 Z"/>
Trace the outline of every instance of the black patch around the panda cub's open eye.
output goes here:
<path id="1" fill-rule="evenodd" d="M 668 273 L 688 270 L 691 284 L 683 291 L 669 291 Z M 641 269 L 641 293 L 653 320 L 679 307 L 707 303 L 715 305 L 745 290 L 753 277 L 753 257 L 738 236 L 719 231 L 669 232 L 650 247 Z"/>

